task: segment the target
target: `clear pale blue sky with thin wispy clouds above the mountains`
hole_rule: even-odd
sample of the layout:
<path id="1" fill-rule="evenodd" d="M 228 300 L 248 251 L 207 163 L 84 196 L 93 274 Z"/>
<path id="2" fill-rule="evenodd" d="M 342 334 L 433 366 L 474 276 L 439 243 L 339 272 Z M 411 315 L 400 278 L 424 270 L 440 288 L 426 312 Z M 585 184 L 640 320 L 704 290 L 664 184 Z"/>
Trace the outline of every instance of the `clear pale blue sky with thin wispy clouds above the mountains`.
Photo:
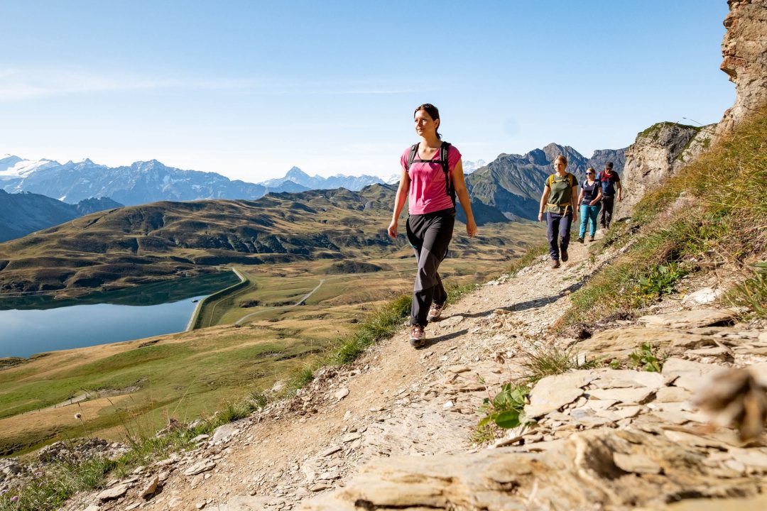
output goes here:
<path id="1" fill-rule="evenodd" d="M 0 154 L 256 182 L 391 175 L 434 103 L 464 159 L 719 120 L 726 0 L 4 0 Z"/>

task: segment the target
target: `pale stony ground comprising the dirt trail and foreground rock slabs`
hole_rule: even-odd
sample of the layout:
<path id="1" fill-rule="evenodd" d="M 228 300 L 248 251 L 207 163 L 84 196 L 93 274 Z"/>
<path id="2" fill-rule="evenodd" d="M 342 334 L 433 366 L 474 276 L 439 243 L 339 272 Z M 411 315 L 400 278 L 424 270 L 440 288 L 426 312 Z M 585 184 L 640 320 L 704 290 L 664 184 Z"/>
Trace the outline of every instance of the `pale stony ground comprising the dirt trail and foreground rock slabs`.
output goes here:
<path id="1" fill-rule="evenodd" d="M 665 509 L 713 498 L 719 511 L 764 509 L 764 441 L 741 441 L 693 404 L 706 375 L 750 366 L 753 378 L 723 376 L 735 382 L 727 402 L 740 404 L 724 414 L 753 421 L 748 396 L 759 401 L 767 385 L 764 324 L 734 324 L 732 311 L 687 300 L 594 326 L 589 339 L 546 333 L 568 294 L 613 256 L 590 261 L 576 245 L 559 270 L 542 257 L 450 304 L 426 348 L 411 348 L 403 329 L 354 365 L 321 370 L 290 401 L 66 509 Z M 525 373 L 537 347 L 574 346 L 588 364 L 643 343 L 667 357 L 662 372 L 603 366 L 543 378 L 525 405 L 534 425 L 472 442 L 483 398 Z"/>

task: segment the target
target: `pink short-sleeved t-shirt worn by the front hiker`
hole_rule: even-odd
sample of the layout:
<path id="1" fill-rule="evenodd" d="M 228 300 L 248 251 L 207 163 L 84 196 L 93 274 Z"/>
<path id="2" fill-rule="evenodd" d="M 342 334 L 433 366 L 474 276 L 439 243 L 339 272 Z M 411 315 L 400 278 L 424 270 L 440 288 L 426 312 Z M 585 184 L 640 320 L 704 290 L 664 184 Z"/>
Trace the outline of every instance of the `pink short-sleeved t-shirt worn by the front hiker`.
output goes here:
<path id="1" fill-rule="evenodd" d="M 405 149 L 400 157 L 400 164 L 407 169 L 407 158 L 410 156 L 410 147 Z M 421 159 L 420 154 L 415 159 Z M 410 175 L 410 193 L 408 194 L 408 211 L 410 215 L 423 215 L 433 211 L 453 208 L 453 201 L 447 195 L 447 183 L 445 171 L 439 162 L 439 151 L 432 158 L 434 162 L 413 162 L 407 170 Z M 450 172 L 456 168 L 461 159 L 461 153 L 456 146 L 450 146 L 447 150 L 447 166 Z"/>

